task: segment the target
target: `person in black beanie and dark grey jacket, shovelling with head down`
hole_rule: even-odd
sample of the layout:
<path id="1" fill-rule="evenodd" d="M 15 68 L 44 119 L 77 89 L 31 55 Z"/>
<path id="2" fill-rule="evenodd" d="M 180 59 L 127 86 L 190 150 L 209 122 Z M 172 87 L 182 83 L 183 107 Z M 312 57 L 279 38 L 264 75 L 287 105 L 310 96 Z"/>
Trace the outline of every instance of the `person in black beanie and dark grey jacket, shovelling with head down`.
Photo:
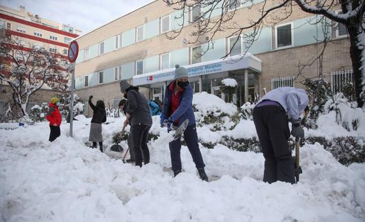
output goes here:
<path id="1" fill-rule="evenodd" d="M 135 165 L 142 167 L 142 152 L 145 165 L 150 163 L 150 151 L 148 150 L 148 132 L 152 126 L 152 117 L 148 100 L 139 92 L 138 87 L 130 85 L 127 81 L 120 82 L 120 90 L 127 99 L 126 117 L 124 124 L 130 124 L 132 134 L 132 146 L 135 154 Z"/>

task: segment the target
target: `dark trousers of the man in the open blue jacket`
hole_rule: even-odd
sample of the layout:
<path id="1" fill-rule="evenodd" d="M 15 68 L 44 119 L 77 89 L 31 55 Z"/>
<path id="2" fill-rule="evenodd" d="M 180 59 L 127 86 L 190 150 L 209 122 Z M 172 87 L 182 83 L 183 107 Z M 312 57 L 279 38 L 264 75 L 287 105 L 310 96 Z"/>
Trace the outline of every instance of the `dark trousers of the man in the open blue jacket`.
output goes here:
<path id="1" fill-rule="evenodd" d="M 198 135 L 196 134 L 196 124 L 192 124 L 187 126 L 184 132 L 184 139 L 187 143 L 187 148 L 193 158 L 193 161 L 196 165 L 196 168 L 201 169 L 204 168 L 204 161 L 202 158 L 202 153 L 200 152 L 199 145 L 198 145 Z M 171 141 L 169 143 L 170 148 L 170 155 L 171 155 L 171 164 L 173 171 L 181 170 L 181 157 L 180 157 L 180 150 L 181 150 L 181 141 L 180 139 L 176 139 L 175 141 Z"/>

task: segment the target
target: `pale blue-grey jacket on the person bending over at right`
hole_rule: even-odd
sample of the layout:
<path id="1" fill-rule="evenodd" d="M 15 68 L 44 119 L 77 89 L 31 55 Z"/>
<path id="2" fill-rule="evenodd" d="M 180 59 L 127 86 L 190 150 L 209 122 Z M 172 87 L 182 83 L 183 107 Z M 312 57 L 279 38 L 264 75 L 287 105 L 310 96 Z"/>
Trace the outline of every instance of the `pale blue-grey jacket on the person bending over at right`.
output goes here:
<path id="1" fill-rule="evenodd" d="M 279 87 L 268 92 L 257 104 L 263 100 L 279 102 L 292 120 L 298 120 L 308 105 L 308 96 L 304 89 L 295 87 Z"/>

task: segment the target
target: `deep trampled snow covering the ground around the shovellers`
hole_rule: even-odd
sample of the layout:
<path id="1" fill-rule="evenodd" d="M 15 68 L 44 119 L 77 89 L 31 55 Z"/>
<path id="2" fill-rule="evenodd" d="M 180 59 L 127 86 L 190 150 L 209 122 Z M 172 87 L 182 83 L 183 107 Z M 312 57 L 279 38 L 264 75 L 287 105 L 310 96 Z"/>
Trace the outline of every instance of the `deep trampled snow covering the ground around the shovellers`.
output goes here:
<path id="1" fill-rule="evenodd" d="M 220 110 L 229 111 L 227 106 Z M 183 173 L 172 177 L 172 136 L 158 126 L 158 117 L 151 130 L 160 137 L 149 143 L 151 163 L 142 168 L 110 158 L 123 155 L 108 150 L 123 117 L 103 125 L 104 154 L 84 144 L 91 119 L 77 118 L 74 137 L 62 122 L 53 143 L 47 122 L 0 124 L 0 221 L 365 221 L 365 164 L 341 165 L 318 143 L 301 149 L 303 174 L 293 185 L 262 182 L 262 154 L 201 145 L 210 180 L 203 182 L 184 146 Z M 331 136 L 326 120 L 307 133 Z M 365 138 L 364 130 L 332 130 Z M 203 141 L 224 135 L 252 137 L 255 126 L 242 120 L 233 130 L 198 127 Z M 126 142 L 121 145 L 126 150 Z"/>

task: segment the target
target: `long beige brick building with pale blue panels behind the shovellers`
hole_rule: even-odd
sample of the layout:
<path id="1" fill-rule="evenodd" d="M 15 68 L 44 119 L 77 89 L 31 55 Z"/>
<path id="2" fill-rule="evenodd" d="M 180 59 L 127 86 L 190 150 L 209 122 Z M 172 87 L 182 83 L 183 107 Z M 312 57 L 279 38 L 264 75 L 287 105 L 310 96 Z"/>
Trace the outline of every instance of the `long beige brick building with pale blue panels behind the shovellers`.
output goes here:
<path id="1" fill-rule="evenodd" d="M 248 24 L 250 18 L 259 16 L 263 2 L 238 3 L 231 22 Z M 167 7 L 163 1 L 153 1 L 77 38 L 80 51 L 75 65 L 76 93 L 84 100 L 93 95 L 104 100 L 106 105 L 116 107 L 121 99 L 119 81 L 126 79 L 132 85 L 140 86 L 148 98 L 163 100 L 165 87 L 174 78 L 174 66 L 179 64 L 188 69 L 189 84 L 194 92 L 204 91 L 226 99 L 220 90 L 222 79 L 236 79 L 238 85 L 233 102 L 242 105 L 255 100 L 257 95 L 262 96 L 264 90 L 281 86 L 303 87 L 303 77 L 315 77 L 320 64 L 311 64 L 297 77 L 298 64 L 310 61 L 320 53 L 320 41 L 325 34 L 331 36 L 331 42 L 323 57 L 323 73 L 331 77 L 332 85 L 342 71 L 351 75 L 346 29 L 333 24 L 326 31 L 321 23 L 316 23 L 320 16 L 307 14 L 299 8 L 280 23 L 263 27 L 242 59 L 239 58 L 246 51 L 244 38 L 228 38 L 229 30 L 217 33 L 214 48 L 200 57 L 198 52 L 207 48 L 204 38 L 193 45 L 187 44 L 187 40 L 193 31 L 191 23 L 202 10 L 204 8 L 185 12 L 183 19 L 182 12 Z M 215 10 L 213 16 L 219 13 Z M 165 34 L 181 25 L 184 29 L 180 36 L 168 40 Z M 231 47 L 237 38 L 238 44 Z M 230 50 L 230 57 L 221 59 Z"/>

